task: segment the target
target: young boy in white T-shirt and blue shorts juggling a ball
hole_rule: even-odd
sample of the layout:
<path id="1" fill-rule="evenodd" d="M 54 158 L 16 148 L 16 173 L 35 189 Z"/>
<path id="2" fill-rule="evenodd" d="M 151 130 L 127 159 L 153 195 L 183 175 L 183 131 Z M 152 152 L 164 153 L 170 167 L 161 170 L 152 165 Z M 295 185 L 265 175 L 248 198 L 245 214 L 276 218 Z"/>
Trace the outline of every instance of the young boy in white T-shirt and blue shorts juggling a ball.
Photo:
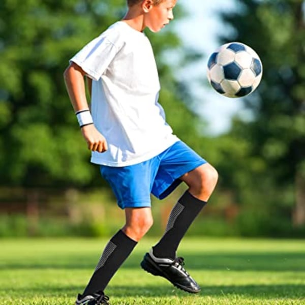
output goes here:
<path id="1" fill-rule="evenodd" d="M 64 73 L 82 135 L 100 166 L 126 223 L 110 239 L 81 304 L 109 304 L 104 290 L 137 242 L 153 224 L 150 193 L 162 199 L 181 181 L 189 189 L 170 214 L 163 237 L 145 254 L 141 267 L 191 293 L 199 285 L 176 250 L 214 190 L 218 174 L 172 133 L 158 103 L 158 72 L 144 28 L 159 32 L 173 19 L 175 0 L 127 0 L 123 20 L 111 25 L 71 60 Z M 84 76 L 91 93 L 85 97 Z"/>

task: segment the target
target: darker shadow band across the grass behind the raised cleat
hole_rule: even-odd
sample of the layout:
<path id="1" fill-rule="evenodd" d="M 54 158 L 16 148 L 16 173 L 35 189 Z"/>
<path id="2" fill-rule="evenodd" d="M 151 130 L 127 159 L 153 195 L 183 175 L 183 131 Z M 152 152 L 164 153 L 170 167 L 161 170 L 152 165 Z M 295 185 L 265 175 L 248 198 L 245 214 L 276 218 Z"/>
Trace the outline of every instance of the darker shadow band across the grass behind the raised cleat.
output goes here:
<path id="1" fill-rule="evenodd" d="M 134 253 L 123 268 L 140 268 L 143 255 Z M 305 254 L 296 253 L 209 253 L 189 254 L 185 257 L 188 270 L 232 270 L 232 271 L 305 271 Z M 36 257 L 35 260 L 2 261 L 0 269 L 94 269 L 99 256 L 58 254 L 56 257 Z"/>

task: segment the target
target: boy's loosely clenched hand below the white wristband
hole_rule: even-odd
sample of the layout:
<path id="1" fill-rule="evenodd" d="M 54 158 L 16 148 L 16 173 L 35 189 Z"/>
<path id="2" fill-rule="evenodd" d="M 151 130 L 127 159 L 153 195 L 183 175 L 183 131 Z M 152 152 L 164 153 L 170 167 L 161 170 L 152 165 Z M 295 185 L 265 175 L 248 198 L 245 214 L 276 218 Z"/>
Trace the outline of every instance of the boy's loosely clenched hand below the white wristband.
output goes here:
<path id="1" fill-rule="evenodd" d="M 108 149 L 106 139 L 93 124 L 83 126 L 81 132 L 88 144 L 88 149 L 99 153 L 104 153 Z"/>

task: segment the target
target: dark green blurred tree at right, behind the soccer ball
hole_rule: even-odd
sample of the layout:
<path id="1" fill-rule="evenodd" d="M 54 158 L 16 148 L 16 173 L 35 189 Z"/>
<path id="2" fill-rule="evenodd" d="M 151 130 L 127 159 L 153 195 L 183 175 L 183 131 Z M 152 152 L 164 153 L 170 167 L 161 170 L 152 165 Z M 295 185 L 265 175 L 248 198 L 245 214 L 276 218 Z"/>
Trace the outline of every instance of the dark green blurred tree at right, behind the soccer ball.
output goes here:
<path id="1" fill-rule="evenodd" d="M 230 135 L 242 142 L 247 140 L 250 167 L 256 165 L 250 173 L 252 178 L 248 174 L 251 187 L 262 191 L 268 185 L 269 194 L 281 202 L 277 208 L 282 206 L 285 211 L 288 205 L 293 205 L 293 222 L 302 226 L 305 224 L 305 4 L 300 0 L 238 0 L 236 7 L 237 12 L 222 14 L 234 31 L 221 40 L 252 46 L 262 59 L 264 75 L 256 94 L 245 99 L 252 120 L 236 118 Z M 289 195 L 291 188 L 295 190 L 293 197 Z"/>

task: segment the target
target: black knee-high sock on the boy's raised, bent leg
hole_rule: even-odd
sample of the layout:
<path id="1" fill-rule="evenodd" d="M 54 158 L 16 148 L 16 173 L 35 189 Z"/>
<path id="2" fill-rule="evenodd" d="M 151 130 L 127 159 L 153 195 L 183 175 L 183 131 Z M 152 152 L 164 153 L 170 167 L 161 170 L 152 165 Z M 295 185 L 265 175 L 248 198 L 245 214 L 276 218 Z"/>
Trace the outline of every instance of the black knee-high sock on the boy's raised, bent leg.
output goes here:
<path id="1" fill-rule="evenodd" d="M 153 247 L 155 256 L 175 258 L 182 237 L 205 204 L 205 201 L 195 198 L 188 191 L 182 195 L 171 211 L 165 234 Z"/>

